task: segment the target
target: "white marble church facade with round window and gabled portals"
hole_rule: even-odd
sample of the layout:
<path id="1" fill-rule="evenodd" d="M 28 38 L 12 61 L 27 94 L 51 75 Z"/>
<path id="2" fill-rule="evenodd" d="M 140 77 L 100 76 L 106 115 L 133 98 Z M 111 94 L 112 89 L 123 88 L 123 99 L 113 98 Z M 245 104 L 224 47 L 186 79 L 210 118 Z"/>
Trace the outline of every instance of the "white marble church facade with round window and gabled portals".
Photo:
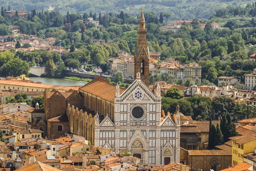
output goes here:
<path id="1" fill-rule="evenodd" d="M 116 86 L 114 120 L 108 116 L 99 123 L 96 115 L 95 145 L 128 151 L 148 165 L 180 162 L 180 116 L 176 123 L 169 115 L 161 120 L 161 96 L 157 96 L 140 77 L 119 94 Z M 178 110 L 177 110 L 178 111 Z"/>

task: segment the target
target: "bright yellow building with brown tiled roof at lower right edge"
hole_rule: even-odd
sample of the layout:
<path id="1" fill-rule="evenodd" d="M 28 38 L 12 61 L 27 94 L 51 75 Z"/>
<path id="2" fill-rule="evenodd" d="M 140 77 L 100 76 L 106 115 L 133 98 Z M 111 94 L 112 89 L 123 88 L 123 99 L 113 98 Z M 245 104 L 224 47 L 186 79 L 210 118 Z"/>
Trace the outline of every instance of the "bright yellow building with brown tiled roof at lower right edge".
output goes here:
<path id="1" fill-rule="evenodd" d="M 243 154 L 254 151 L 256 147 L 256 135 L 233 136 L 232 140 L 232 165 L 244 162 Z"/>

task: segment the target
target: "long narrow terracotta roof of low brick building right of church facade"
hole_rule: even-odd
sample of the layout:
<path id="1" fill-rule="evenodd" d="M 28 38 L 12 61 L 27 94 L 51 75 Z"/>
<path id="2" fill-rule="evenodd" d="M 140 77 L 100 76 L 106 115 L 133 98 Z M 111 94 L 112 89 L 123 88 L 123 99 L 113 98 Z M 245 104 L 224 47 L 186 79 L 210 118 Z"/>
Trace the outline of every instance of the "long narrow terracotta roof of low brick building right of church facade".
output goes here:
<path id="1" fill-rule="evenodd" d="M 231 156 L 231 150 L 188 150 L 190 156 Z"/>

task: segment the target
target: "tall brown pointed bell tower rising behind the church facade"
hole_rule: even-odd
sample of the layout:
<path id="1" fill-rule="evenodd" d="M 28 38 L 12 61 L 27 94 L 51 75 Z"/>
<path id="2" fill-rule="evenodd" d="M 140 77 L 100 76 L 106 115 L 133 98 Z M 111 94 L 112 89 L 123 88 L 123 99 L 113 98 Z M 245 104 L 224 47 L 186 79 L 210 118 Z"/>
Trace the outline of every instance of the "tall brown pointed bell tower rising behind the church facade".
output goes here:
<path id="1" fill-rule="evenodd" d="M 140 79 L 146 86 L 149 84 L 149 48 L 147 44 L 145 29 L 145 18 L 143 8 L 140 15 L 140 27 L 137 29 L 138 40 L 134 52 L 134 80 L 137 79 L 137 73 L 140 72 Z"/>

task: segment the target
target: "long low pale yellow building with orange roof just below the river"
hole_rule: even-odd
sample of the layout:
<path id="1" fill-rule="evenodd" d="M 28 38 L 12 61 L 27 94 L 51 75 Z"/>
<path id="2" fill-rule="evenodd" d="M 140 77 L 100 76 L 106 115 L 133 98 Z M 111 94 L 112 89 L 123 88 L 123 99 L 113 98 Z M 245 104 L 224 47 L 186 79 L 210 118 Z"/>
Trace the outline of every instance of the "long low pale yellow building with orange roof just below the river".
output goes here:
<path id="1" fill-rule="evenodd" d="M 58 90 L 59 92 L 67 91 L 70 89 L 78 89 L 76 86 L 57 86 L 50 84 L 29 83 L 17 80 L 0 80 L 0 90 L 22 90 L 22 91 L 44 91 L 46 88 L 49 90 Z"/>

